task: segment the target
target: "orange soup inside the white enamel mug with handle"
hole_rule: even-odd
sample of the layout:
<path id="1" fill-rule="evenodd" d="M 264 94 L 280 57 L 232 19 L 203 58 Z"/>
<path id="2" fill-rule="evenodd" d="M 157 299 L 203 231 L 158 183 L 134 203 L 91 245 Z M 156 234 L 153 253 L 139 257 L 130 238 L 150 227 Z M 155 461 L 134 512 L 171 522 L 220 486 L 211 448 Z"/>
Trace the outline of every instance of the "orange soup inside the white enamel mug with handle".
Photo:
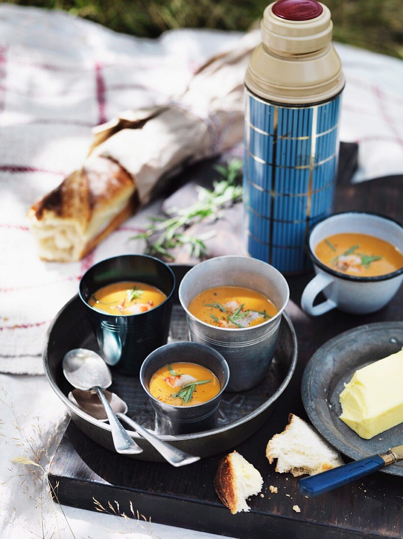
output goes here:
<path id="1" fill-rule="evenodd" d="M 397 247 L 368 234 L 334 234 L 318 243 L 315 254 L 326 266 L 360 277 L 386 275 L 403 266 Z"/>

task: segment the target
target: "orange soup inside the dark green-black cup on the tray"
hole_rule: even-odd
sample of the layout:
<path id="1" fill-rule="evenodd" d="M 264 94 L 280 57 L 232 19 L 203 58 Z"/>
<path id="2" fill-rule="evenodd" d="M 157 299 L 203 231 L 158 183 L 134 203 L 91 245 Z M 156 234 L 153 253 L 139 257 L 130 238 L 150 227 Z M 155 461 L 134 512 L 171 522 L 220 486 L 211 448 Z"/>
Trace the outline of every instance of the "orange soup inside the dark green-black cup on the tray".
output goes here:
<path id="1" fill-rule="evenodd" d="M 145 282 L 122 281 L 99 288 L 91 295 L 88 305 L 120 316 L 145 313 L 160 305 L 166 298 L 158 288 Z"/>

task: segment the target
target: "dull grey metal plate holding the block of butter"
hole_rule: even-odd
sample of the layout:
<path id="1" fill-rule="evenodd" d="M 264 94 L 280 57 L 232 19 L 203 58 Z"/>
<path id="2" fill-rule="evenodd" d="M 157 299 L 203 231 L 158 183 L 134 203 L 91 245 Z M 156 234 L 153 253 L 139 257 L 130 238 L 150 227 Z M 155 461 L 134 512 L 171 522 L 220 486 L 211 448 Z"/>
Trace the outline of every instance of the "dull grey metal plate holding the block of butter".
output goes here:
<path id="1" fill-rule="evenodd" d="M 403 322 L 367 324 L 345 331 L 320 347 L 306 365 L 302 400 L 306 413 L 322 436 L 354 460 L 403 444 L 403 423 L 374 436 L 360 438 L 339 419 L 339 395 L 354 372 L 398 352 L 403 346 Z M 403 462 L 382 472 L 403 476 Z"/>

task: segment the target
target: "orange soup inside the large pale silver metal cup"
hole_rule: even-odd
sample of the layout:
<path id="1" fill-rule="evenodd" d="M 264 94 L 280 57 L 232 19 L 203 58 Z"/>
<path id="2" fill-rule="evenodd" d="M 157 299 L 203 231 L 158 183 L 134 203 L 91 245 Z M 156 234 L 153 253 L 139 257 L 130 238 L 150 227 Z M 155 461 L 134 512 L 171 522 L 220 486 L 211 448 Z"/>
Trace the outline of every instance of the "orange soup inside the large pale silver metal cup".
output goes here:
<path id="1" fill-rule="evenodd" d="M 202 322 L 220 328 L 258 326 L 278 313 L 263 294 L 241 286 L 216 286 L 198 294 L 189 312 Z"/>

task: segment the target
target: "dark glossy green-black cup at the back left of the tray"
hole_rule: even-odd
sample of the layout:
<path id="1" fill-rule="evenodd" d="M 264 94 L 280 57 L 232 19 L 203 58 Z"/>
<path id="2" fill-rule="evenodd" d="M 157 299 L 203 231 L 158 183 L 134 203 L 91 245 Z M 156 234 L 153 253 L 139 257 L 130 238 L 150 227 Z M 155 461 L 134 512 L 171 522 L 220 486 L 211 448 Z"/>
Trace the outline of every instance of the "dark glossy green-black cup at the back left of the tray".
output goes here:
<path id="1" fill-rule="evenodd" d="M 119 281 L 140 281 L 159 288 L 167 299 L 145 313 L 111 315 L 88 305 L 91 294 Z M 168 340 L 175 276 L 167 264 L 144 254 L 108 258 L 92 266 L 79 284 L 79 296 L 97 337 L 101 356 L 114 370 L 138 375 L 145 358 Z"/>

